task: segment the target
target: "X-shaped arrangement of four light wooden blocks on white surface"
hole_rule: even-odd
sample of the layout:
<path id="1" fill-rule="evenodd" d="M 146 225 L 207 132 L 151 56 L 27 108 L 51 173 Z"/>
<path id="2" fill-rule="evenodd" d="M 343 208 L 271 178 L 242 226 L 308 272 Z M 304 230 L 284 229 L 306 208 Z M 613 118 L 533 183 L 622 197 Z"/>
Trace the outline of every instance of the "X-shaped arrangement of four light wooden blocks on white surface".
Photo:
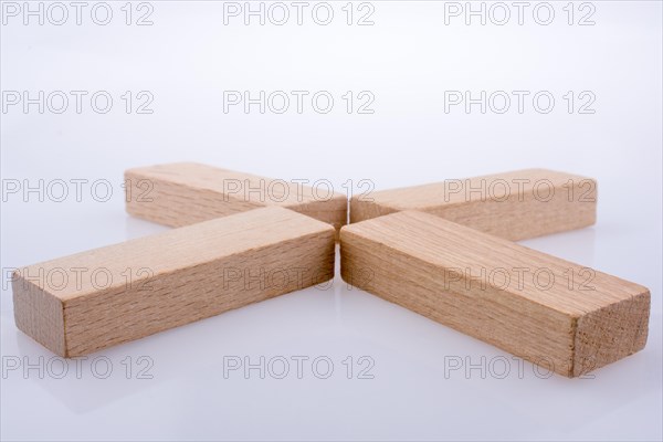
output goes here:
<path id="1" fill-rule="evenodd" d="M 15 272 L 17 326 L 59 355 L 328 281 L 339 231 L 348 283 L 560 375 L 646 341 L 645 287 L 511 242 L 593 224 L 590 178 L 529 169 L 385 190 L 352 198 L 344 227 L 347 198 L 303 180 L 190 162 L 125 177 L 127 211 L 177 229 Z"/>

